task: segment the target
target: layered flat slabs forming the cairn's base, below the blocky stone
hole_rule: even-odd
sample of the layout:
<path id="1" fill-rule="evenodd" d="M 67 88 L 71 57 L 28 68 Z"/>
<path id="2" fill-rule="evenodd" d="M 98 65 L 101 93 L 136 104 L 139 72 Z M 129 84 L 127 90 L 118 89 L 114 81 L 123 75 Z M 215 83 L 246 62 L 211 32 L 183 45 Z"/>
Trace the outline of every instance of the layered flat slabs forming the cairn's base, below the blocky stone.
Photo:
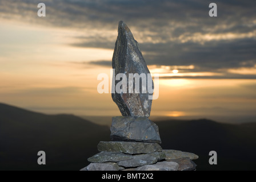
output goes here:
<path id="1" fill-rule="evenodd" d="M 193 171 L 198 156 L 177 150 L 162 150 L 157 143 L 99 142 L 101 151 L 91 156 L 81 171 Z"/>

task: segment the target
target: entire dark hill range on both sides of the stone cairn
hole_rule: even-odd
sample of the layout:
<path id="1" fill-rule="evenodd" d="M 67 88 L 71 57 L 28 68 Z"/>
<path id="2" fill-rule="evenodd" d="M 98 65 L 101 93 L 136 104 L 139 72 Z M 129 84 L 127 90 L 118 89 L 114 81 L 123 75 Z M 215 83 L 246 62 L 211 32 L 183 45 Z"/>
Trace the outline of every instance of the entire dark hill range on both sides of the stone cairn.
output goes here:
<path id="1" fill-rule="evenodd" d="M 197 170 L 256 169 L 256 123 L 228 125 L 208 119 L 156 122 L 162 148 L 193 152 Z M 0 104 L 1 170 L 78 170 L 96 154 L 100 140 L 108 141 L 109 127 L 75 115 L 46 115 Z M 46 165 L 37 152 L 46 152 Z M 218 164 L 210 166 L 209 152 Z"/>

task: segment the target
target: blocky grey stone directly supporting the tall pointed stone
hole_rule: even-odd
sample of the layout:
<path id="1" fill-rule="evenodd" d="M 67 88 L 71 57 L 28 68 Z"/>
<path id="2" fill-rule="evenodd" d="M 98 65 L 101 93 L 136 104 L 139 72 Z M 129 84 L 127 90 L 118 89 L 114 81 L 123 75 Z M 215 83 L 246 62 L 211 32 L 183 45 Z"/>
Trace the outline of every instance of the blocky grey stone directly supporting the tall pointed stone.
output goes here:
<path id="1" fill-rule="evenodd" d="M 113 117 L 110 131 L 111 140 L 161 143 L 158 126 L 147 117 Z"/>

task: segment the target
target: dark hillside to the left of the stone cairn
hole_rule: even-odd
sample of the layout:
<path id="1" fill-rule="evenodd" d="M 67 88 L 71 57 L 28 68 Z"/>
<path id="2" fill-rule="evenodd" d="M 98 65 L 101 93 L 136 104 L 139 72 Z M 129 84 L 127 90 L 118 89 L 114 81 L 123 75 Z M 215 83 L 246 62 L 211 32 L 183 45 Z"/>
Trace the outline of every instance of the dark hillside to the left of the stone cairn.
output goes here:
<path id="1" fill-rule="evenodd" d="M 78 170 L 110 130 L 75 115 L 46 115 L 0 104 L 0 169 Z M 46 165 L 37 152 L 46 152 Z"/>

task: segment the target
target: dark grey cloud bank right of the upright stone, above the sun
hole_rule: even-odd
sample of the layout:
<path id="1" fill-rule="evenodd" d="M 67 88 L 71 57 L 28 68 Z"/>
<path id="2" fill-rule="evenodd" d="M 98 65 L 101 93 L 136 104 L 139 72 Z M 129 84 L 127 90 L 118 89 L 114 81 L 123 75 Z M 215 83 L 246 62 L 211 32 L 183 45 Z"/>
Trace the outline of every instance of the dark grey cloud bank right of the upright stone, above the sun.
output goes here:
<path id="1" fill-rule="evenodd" d="M 154 48 L 149 44 L 141 45 L 142 50 L 157 53 L 156 55 L 145 55 L 148 64 L 193 64 L 206 70 L 237 68 L 245 63 L 251 67 L 256 64 L 256 39 L 220 40 L 205 44 L 165 43 L 157 44 Z"/>

